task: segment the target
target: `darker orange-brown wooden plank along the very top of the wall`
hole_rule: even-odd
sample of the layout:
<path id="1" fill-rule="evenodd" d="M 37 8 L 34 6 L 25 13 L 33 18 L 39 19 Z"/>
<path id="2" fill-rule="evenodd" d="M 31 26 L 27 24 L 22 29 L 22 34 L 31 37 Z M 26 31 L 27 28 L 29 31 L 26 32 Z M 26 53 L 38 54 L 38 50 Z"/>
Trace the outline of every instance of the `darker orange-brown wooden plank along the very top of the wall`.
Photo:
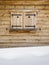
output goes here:
<path id="1" fill-rule="evenodd" d="M 22 4 L 23 3 L 25 5 L 26 5 L 26 3 L 27 4 L 30 4 L 30 3 L 31 4 L 33 4 L 33 3 L 34 4 L 39 4 L 39 3 L 40 4 L 42 4 L 42 3 L 43 4 L 49 4 L 49 1 L 46 1 L 46 2 L 45 1 L 36 1 L 36 2 L 35 1 L 16 1 L 16 2 L 15 1 L 0 1 L 0 4 L 3 4 L 3 5 L 5 5 L 5 4 L 7 4 L 7 5 L 16 5 L 17 3 L 18 4 Z"/>

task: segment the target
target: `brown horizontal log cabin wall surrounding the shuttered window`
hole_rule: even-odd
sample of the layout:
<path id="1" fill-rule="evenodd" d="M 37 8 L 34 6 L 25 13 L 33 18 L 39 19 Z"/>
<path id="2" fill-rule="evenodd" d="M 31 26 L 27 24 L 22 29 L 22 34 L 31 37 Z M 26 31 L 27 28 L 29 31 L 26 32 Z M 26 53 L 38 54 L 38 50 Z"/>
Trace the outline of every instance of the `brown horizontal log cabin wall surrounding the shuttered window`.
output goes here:
<path id="1" fill-rule="evenodd" d="M 11 12 L 32 9 L 37 13 L 37 30 L 10 32 Z M 0 47 L 49 45 L 49 0 L 0 0 Z"/>

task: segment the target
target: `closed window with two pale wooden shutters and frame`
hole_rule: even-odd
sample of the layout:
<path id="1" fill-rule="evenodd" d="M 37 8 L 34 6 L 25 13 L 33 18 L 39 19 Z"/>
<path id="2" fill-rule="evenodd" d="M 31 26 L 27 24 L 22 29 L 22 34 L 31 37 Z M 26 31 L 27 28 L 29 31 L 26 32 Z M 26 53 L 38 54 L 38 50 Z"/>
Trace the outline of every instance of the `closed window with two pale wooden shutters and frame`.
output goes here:
<path id="1" fill-rule="evenodd" d="M 13 30 L 33 30 L 36 27 L 36 14 L 33 12 L 17 12 L 11 14 Z"/>

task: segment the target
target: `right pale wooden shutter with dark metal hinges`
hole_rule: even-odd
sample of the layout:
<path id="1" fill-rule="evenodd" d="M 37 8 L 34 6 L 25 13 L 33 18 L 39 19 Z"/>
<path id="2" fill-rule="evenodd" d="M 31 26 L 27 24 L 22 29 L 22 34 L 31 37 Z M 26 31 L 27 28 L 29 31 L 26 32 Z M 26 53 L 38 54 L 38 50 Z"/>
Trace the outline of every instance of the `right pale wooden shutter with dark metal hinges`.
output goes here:
<path id="1" fill-rule="evenodd" d="M 33 27 L 36 24 L 36 15 L 34 13 L 25 13 L 25 27 Z"/>

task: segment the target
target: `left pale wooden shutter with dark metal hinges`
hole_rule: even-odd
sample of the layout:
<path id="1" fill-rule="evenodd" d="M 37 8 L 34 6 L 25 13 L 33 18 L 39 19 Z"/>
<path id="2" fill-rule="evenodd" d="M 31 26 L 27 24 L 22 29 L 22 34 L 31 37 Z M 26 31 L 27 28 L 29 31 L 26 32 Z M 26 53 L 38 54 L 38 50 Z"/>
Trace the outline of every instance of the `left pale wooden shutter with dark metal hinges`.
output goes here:
<path id="1" fill-rule="evenodd" d="M 22 27 L 22 13 L 13 13 L 11 16 L 11 26 Z"/>

